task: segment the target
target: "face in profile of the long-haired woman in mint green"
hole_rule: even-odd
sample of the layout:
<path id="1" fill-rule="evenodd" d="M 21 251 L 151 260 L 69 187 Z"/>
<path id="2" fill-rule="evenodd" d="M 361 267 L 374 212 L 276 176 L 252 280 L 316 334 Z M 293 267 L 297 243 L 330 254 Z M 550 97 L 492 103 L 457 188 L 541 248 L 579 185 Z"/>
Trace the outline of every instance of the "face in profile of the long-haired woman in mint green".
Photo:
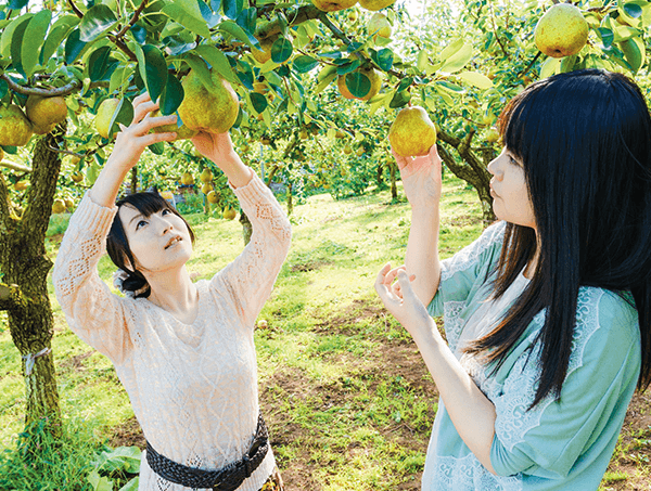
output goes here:
<path id="1" fill-rule="evenodd" d="M 522 163 L 505 146 L 501 154 L 488 164 L 493 211 L 500 220 L 536 229 L 534 208 L 529 199 Z"/>

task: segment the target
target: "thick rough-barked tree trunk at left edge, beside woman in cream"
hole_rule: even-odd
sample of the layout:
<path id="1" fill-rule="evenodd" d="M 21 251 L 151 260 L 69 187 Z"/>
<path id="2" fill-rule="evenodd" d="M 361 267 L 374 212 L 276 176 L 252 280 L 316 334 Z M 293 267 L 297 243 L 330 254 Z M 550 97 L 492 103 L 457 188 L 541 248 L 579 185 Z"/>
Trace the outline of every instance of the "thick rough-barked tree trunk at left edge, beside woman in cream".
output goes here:
<path id="1" fill-rule="evenodd" d="M 12 340 L 23 359 L 25 425 L 46 417 L 46 428 L 55 436 L 61 431 L 61 412 L 51 351 L 54 318 L 47 284 L 52 261 L 44 240 L 61 168 L 59 154 L 49 146 L 58 147 L 61 142 L 60 135 L 49 133 L 36 143 L 22 216 L 0 176 L 0 310 L 8 312 Z"/>

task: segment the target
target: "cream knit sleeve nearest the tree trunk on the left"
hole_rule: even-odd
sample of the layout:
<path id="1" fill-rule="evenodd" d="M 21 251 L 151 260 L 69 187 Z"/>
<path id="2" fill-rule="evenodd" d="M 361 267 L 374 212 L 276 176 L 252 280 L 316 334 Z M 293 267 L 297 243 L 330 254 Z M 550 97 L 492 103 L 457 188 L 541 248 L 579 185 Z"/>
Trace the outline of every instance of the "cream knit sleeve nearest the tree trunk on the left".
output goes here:
<path id="1" fill-rule="evenodd" d="M 125 299 L 111 293 L 97 270 L 116 212 L 84 196 L 59 248 L 52 282 L 71 330 L 119 363 L 131 349 Z"/>

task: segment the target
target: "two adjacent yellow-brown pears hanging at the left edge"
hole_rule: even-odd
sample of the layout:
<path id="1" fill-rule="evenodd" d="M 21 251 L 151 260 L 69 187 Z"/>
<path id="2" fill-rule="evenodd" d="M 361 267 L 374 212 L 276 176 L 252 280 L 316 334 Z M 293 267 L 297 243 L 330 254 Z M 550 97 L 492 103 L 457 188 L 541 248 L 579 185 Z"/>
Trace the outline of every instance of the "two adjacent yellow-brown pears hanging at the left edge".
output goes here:
<path id="1" fill-rule="evenodd" d="M 33 134 L 46 134 L 67 117 L 63 96 L 29 95 L 25 112 L 16 104 L 0 106 L 0 145 L 24 146 Z"/>

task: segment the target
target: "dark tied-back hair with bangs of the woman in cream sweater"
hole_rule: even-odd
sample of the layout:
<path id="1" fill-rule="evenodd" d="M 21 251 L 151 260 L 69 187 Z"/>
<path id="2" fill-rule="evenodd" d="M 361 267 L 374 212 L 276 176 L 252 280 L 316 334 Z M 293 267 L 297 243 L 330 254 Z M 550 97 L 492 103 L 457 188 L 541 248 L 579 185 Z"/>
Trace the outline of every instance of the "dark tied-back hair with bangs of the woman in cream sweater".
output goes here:
<path id="1" fill-rule="evenodd" d="M 186 227 L 188 227 L 188 231 L 190 232 L 190 238 L 194 244 L 194 232 L 192 231 L 190 224 L 176 210 L 176 208 L 157 192 L 148 191 L 143 193 L 129 194 L 119 199 L 115 205 L 117 206 L 118 210 L 125 205 L 131 206 L 141 212 L 145 218 L 163 209 L 168 209 L 183 220 L 183 223 L 186 223 Z M 123 283 L 123 288 L 133 292 L 136 298 L 149 297 L 151 294 L 151 288 L 149 287 L 144 275 L 133 267 L 133 264 L 136 264 L 136 258 L 133 257 L 133 253 L 129 247 L 129 241 L 119 218 L 119 214 L 115 215 L 113 224 L 108 231 L 108 236 L 106 237 L 106 251 L 108 253 L 108 257 L 111 257 L 113 263 L 128 274 L 128 277 Z"/>

